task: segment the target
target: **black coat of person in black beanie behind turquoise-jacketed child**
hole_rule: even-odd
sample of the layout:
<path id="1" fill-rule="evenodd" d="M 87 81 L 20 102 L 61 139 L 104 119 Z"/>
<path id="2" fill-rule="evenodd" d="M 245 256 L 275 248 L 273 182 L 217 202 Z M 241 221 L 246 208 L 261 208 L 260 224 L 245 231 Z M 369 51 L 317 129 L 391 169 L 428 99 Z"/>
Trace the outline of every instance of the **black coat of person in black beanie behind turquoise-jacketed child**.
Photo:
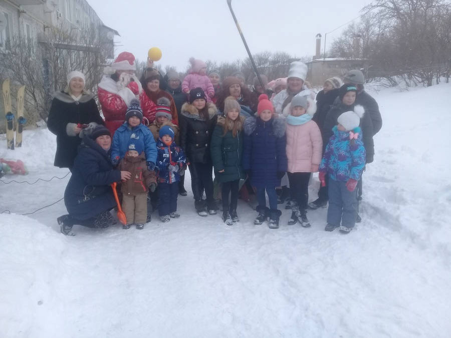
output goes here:
<path id="1" fill-rule="evenodd" d="M 323 136 L 323 154 L 326 150 L 326 146 L 329 143 L 329 139 L 332 135 L 334 135 L 334 132 L 332 131 L 332 128 L 338 125 L 338 117 L 350 110 L 354 110 L 354 107 L 356 104 L 354 103 L 351 106 L 346 106 L 342 103 L 333 106 L 329 112 L 326 115 L 326 119 L 324 120 L 324 126 L 322 131 Z M 366 156 L 373 156 L 374 155 L 374 141 L 373 141 L 373 122 L 371 121 L 370 114 L 368 114 L 368 111 L 365 108 L 365 114 L 360 119 L 360 129 L 362 130 L 362 141 L 363 146 L 365 147 Z"/>

